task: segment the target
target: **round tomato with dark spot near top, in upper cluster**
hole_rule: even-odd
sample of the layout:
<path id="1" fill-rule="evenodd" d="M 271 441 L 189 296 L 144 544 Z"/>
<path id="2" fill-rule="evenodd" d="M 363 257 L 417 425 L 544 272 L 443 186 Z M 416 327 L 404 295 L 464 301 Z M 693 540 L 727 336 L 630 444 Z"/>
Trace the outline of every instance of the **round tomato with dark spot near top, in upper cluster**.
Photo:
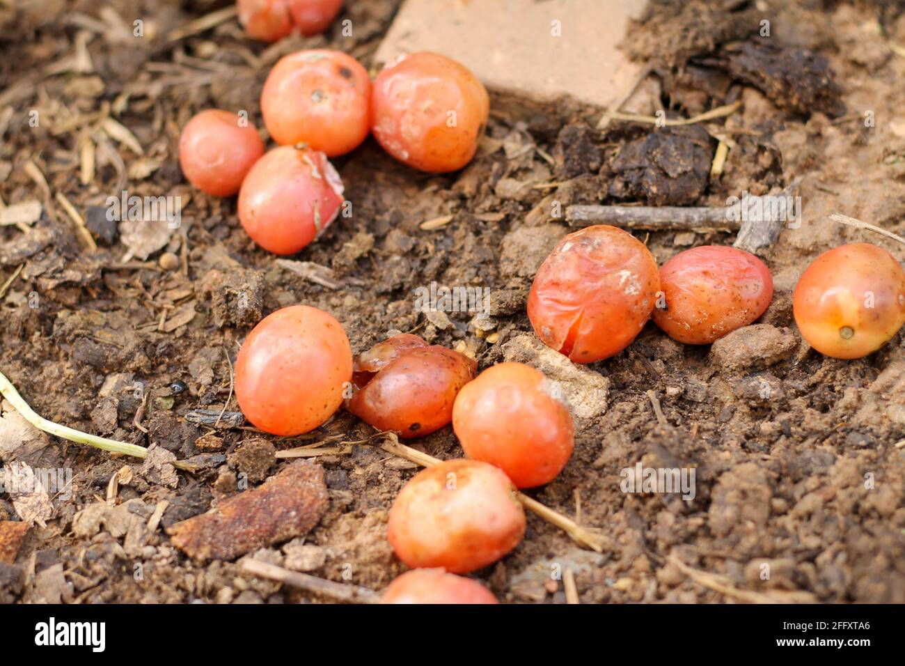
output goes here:
<path id="1" fill-rule="evenodd" d="M 261 113 L 277 143 L 307 143 L 335 157 L 367 138 L 370 101 L 371 80 L 355 58 L 326 49 L 300 51 L 273 66 Z"/>

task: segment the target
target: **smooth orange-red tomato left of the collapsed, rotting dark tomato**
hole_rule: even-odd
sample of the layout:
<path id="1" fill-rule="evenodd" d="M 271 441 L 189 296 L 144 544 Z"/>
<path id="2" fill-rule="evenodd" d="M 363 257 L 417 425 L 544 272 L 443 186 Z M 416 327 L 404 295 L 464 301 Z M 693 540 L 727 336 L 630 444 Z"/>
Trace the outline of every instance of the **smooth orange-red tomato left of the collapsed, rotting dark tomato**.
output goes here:
<path id="1" fill-rule="evenodd" d="M 273 435 L 314 430 L 338 410 L 352 379 L 352 349 L 331 315 L 292 305 L 265 317 L 235 362 L 245 418 Z"/>

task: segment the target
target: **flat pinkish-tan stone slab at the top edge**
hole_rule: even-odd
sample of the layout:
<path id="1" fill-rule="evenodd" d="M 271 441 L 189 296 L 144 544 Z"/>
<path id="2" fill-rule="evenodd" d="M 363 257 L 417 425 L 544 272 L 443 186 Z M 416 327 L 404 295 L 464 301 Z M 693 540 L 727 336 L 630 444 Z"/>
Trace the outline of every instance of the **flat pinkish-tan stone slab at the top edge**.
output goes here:
<path id="1" fill-rule="evenodd" d="M 608 108 L 632 88 L 643 67 L 629 61 L 618 45 L 630 18 L 638 17 L 646 4 L 406 0 L 377 50 L 376 62 L 393 63 L 418 51 L 443 53 L 496 93 L 498 108 L 517 114 L 545 106 L 565 111 L 562 101 Z"/>

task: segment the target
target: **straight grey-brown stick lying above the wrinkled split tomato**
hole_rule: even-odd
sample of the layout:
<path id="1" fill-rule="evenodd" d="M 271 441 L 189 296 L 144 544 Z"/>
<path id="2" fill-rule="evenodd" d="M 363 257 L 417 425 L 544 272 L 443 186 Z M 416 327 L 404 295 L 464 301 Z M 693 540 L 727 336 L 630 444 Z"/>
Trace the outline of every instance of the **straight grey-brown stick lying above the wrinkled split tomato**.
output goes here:
<path id="1" fill-rule="evenodd" d="M 726 208 L 683 206 L 569 206 L 566 221 L 571 227 L 612 225 L 629 229 L 675 229 L 678 231 L 735 231 L 738 220 L 730 220 Z"/>

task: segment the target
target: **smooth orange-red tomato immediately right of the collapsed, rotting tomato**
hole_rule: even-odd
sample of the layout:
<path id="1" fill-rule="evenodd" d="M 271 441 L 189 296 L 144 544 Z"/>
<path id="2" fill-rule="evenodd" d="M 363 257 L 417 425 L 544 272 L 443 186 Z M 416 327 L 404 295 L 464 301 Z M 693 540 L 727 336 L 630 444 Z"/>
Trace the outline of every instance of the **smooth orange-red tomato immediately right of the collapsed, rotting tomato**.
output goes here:
<path id="1" fill-rule="evenodd" d="M 462 387 L 452 429 L 465 455 L 502 469 L 519 488 L 543 486 L 566 467 L 575 428 L 549 394 L 543 373 L 529 365 L 493 365 Z"/>

